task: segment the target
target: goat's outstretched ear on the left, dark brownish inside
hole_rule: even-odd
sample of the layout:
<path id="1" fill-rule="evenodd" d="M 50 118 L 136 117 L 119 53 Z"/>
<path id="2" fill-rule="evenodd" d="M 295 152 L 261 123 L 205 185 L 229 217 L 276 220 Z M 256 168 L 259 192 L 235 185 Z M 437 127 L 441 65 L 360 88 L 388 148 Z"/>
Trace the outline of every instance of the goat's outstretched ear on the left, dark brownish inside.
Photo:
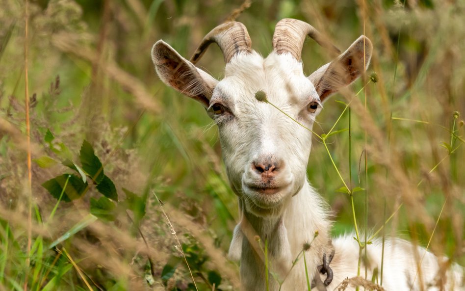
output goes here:
<path id="1" fill-rule="evenodd" d="M 208 108 L 218 80 L 194 66 L 162 40 L 152 48 L 152 61 L 156 73 L 165 84 Z"/>

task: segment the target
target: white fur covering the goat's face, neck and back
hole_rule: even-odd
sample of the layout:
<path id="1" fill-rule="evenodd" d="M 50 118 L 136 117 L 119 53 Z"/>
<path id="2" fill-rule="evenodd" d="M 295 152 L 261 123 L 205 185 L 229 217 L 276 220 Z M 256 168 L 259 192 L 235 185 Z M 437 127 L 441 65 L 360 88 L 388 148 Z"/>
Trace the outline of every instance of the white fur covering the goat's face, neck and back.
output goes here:
<path id="1" fill-rule="evenodd" d="M 359 40 L 346 53 L 363 48 L 363 42 Z M 156 52 L 154 55 L 159 58 Z M 159 71 L 162 64 L 154 62 Z M 321 110 L 321 106 L 314 113 L 307 110 L 310 102 L 320 101 L 313 83 L 332 89 L 341 85 L 340 79 L 334 80 L 337 76 L 334 74 L 329 80 L 319 82 L 330 67 L 326 65 L 306 77 L 302 63 L 289 53 L 278 55 L 273 52 L 266 58 L 256 52 L 238 53 L 226 65 L 225 78 L 216 84 L 209 99 L 210 108 L 215 104 L 228 108 L 222 115 L 211 114 L 211 111 L 210 115 L 218 124 L 228 178 L 239 199 L 241 221 L 234 229 L 229 256 L 240 258 L 244 291 L 264 291 L 266 286 L 263 254 L 258 248 L 257 236 L 261 243 L 265 239 L 268 242 L 270 269 L 281 280 L 285 278 L 282 291 L 307 290 L 303 259 L 292 269 L 291 265 L 303 244 L 313 240 L 315 232 L 318 235 L 305 253 L 311 278 L 316 273 L 316 266 L 322 264 L 323 254 L 331 251 L 331 222 L 326 204 L 306 178 L 312 134 L 270 104 L 255 98 L 259 90 L 264 91 L 272 104 L 311 129 Z M 196 80 L 189 81 L 194 84 Z M 191 91 L 199 90 L 195 84 L 189 87 L 192 87 Z M 273 180 L 273 185 L 282 187 L 282 190 L 272 195 L 260 194 L 250 187 L 260 183 L 260 175 L 252 167 L 254 161 L 265 159 L 283 165 Z M 328 290 L 334 290 L 347 277 L 357 276 L 357 242 L 347 236 L 333 239 L 333 245 L 336 253 L 330 266 L 334 279 Z M 362 264 L 361 274 L 365 274 L 366 267 L 369 280 L 373 270 L 381 268 L 381 248 L 378 240 L 368 245 L 368 261 Z M 420 258 L 425 254 L 421 276 L 416 276 L 415 251 Z M 439 270 L 438 258 L 433 254 L 404 240 L 390 239 L 384 259 L 383 286 L 386 290 L 420 290 L 420 284 L 425 286 L 424 290 L 439 290 L 429 285 Z M 462 267 L 454 268 L 463 272 Z M 461 271 L 448 271 L 447 290 L 464 290 Z M 278 283 L 271 275 L 269 284 L 271 291 L 278 290 Z"/>

